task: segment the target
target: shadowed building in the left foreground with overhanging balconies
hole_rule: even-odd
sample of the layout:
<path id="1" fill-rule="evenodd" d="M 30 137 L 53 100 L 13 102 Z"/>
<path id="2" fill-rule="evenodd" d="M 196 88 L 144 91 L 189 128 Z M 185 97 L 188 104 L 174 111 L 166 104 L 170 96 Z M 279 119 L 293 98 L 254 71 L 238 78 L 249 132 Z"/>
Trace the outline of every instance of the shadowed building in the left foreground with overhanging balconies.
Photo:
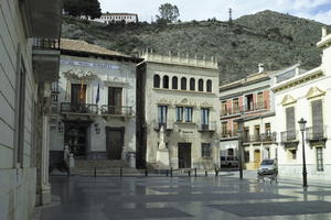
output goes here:
<path id="1" fill-rule="evenodd" d="M 61 0 L 0 2 L 0 219 L 28 220 L 51 199 L 46 124 L 61 11 Z"/>

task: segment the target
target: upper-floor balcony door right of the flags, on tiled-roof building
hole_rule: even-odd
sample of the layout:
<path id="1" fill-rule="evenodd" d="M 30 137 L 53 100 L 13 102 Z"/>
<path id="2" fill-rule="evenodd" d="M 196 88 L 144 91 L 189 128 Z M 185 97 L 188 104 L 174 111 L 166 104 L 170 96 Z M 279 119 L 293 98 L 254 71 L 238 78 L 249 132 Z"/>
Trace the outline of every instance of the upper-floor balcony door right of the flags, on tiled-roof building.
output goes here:
<path id="1" fill-rule="evenodd" d="M 108 87 L 108 113 L 120 114 L 122 106 L 122 88 Z"/>

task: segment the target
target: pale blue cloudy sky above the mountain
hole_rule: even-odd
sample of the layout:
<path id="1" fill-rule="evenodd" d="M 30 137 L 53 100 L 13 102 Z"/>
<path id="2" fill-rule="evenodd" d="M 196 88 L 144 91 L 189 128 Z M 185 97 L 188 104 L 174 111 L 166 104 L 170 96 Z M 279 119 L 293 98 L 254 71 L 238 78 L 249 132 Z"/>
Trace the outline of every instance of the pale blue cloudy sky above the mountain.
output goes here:
<path id="1" fill-rule="evenodd" d="M 331 0 L 99 0 L 103 12 L 137 13 L 140 21 L 156 20 L 162 3 L 175 4 L 180 20 L 207 20 L 216 18 L 228 20 L 228 8 L 233 19 L 254 14 L 263 10 L 273 10 L 291 15 L 331 24 Z"/>

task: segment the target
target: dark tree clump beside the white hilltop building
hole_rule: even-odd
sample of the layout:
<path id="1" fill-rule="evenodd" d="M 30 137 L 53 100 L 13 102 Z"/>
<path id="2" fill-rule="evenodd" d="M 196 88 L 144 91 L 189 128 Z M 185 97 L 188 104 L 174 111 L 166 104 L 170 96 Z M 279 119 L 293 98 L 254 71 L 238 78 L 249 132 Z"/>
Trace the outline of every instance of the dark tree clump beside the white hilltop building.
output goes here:
<path id="1" fill-rule="evenodd" d="M 64 0 L 63 9 L 72 16 L 100 18 L 102 9 L 98 0 Z"/>

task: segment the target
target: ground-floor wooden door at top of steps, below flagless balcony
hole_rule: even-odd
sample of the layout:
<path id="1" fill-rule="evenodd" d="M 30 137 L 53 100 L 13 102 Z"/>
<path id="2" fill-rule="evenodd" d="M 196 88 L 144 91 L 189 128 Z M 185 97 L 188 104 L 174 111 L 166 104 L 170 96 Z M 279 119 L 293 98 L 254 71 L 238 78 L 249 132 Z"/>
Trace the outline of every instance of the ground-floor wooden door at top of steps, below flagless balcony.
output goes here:
<path id="1" fill-rule="evenodd" d="M 124 145 L 124 129 L 107 128 L 106 151 L 108 160 L 121 160 L 121 148 Z"/>

